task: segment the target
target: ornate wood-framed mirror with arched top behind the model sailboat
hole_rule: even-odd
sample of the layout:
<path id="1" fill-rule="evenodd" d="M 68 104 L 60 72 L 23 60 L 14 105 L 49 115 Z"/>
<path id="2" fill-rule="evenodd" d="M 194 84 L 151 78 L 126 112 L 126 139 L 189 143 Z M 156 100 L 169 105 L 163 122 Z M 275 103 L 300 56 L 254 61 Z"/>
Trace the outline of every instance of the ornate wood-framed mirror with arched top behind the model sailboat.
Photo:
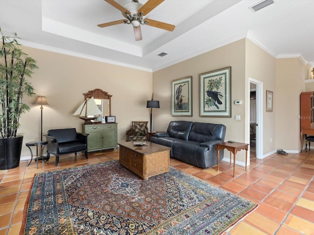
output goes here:
<path id="1" fill-rule="evenodd" d="M 88 91 L 88 93 L 84 93 L 83 95 L 85 100 L 93 97 L 96 105 L 102 111 L 102 116 L 95 121 L 101 121 L 102 117 L 111 116 L 111 94 L 108 94 L 101 89 L 95 89 L 93 91 Z"/>

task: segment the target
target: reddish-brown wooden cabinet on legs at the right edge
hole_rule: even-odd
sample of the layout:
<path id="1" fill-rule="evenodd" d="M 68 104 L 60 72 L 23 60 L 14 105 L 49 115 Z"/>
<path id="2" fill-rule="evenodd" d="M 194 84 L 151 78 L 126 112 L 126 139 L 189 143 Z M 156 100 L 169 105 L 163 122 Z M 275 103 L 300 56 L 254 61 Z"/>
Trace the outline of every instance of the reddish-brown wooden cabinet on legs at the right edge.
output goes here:
<path id="1" fill-rule="evenodd" d="M 303 136 L 314 135 L 314 92 L 300 94 L 300 141 L 303 150 Z"/>

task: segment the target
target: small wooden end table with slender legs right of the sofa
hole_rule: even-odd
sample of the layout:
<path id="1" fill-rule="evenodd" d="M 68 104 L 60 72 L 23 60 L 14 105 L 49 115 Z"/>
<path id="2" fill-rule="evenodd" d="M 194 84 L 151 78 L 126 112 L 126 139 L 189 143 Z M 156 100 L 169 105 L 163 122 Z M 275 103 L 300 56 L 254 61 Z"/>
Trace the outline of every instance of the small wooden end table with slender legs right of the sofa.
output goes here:
<path id="1" fill-rule="evenodd" d="M 235 155 L 237 151 L 241 151 L 242 149 L 245 150 L 245 171 L 246 171 L 246 163 L 247 163 L 247 149 L 249 144 L 248 143 L 241 143 L 241 142 L 223 142 L 223 143 L 217 143 L 217 159 L 218 159 L 218 169 L 219 171 L 219 150 L 221 149 L 227 149 L 230 151 L 230 166 L 231 166 L 231 153 L 234 154 L 234 175 L 235 177 Z"/>

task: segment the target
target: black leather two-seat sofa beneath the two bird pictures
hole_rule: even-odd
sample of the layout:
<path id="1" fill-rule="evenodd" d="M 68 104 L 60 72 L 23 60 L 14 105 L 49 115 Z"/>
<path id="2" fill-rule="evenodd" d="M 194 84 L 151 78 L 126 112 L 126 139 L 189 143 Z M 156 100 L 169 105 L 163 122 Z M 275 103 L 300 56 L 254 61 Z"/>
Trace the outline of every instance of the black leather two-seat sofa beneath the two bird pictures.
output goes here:
<path id="1" fill-rule="evenodd" d="M 226 136 L 226 126 L 191 121 L 171 121 L 166 132 L 155 133 L 150 141 L 171 147 L 170 157 L 208 168 L 217 164 L 217 143 Z M 219 161 L 224 151 L 220 150 Z"/>

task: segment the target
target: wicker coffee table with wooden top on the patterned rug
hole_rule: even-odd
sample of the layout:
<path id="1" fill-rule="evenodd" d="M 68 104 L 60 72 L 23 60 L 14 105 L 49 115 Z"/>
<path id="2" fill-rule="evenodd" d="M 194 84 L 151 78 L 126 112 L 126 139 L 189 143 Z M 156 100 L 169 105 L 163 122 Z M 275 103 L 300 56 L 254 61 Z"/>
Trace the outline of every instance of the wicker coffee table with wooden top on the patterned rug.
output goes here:
<path id="1" fill-rule="evenodd" d="M 170 171 L 170 148 L 147 142 L 137 146 L 133 142 L 119 142 L 120 164 L 139 175 L 143 180 Z"/>

